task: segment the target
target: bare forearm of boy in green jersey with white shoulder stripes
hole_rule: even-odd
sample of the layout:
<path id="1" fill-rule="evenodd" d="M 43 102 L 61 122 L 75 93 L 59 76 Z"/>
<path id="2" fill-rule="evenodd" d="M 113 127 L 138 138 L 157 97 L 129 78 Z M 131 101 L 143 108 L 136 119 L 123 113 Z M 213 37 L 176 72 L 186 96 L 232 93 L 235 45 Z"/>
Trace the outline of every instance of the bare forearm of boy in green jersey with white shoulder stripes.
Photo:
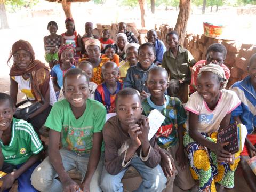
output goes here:
<path id="1" fill-rule="evenodd" d="M 1 150 L 2 154 L 2 150 Z M 25 171 L 29 169 L 32 165 L 34 165 L 36 162 L 39 161 L 40 158 L 42 158 L 42 151 L 36 155 L 32 155 L 29 157 L 29 159 L 21 166 L 19 169 L 5 175 L 0 179 L 0 181 L 3 181 L 3 185 L 1 186 L 0 191 L 4 191 L 6 189 L 9 189 L 12 187 L 14 181 Z"/>

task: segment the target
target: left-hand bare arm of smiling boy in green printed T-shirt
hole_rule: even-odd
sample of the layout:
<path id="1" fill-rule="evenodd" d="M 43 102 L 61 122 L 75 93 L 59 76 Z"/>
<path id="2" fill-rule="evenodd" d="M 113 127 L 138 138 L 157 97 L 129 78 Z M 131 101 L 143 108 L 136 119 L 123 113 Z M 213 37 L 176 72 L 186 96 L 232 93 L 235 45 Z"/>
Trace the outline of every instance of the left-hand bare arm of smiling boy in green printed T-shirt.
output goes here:
<path id="1" fill-rule="evenodd" d="M 79 190 L 79 185 L 74 182 L 64 169 L 62 158 L 59 151 L 60 132 L 50 129 L 49 132 L 49 160 L 54 170 L 59 175 L 63 185 L 63 190 Z"/>

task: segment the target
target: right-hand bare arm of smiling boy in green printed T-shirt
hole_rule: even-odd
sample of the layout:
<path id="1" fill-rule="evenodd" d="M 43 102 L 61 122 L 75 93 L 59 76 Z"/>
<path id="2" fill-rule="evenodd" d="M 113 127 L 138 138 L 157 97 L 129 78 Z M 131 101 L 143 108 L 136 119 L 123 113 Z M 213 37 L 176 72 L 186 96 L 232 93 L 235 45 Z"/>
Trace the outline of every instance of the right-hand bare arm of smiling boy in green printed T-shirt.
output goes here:
<path id="1" fill-rule="evenodd" d="M 84 177 L 84 180 L 81 184 L 81 189 L 85 191 L 90 191 L 90 182 L 92 176 L 98 166 L 101 155 L 101 145 L 103 141 L 102 132 L 94 133 L 92 139 L 92 150 L 89 157 L 89 163 L 87 166 L 87 171 Z"/>

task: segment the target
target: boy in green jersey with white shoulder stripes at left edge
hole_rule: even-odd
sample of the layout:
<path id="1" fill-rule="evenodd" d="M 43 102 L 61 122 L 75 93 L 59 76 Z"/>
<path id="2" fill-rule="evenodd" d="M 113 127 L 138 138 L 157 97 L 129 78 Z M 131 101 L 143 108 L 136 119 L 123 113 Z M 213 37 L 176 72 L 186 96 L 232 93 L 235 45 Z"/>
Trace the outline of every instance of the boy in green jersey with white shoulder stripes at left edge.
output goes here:
<path id="1" fill-rule="evenodd" d="M 43 146 L 33 126 L 14 118 L 14 112 L 12 98 L 0 93 L 0 168 L 3 172 L 9 170 L 0 179 L 1 191 L 8 191 L 16 179 L 18 191 L 37 191 L 30 177 L 42 157 Z"/>

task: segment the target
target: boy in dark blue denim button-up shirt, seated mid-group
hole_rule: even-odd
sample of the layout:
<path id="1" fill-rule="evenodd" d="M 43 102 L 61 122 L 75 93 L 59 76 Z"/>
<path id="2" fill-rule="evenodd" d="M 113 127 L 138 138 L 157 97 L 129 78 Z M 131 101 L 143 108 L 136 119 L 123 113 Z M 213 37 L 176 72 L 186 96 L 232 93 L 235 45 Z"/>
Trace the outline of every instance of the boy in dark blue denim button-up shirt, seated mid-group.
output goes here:
<path id="1" fill-rule="evenodd" d="M 140 45 L 138 53 L 139 62 L 127 70 L 124 87 L 131 87 L 138 90 L 143 99 L 149 96 L 145 82 L 149 69 L 156 67 L 153 63 L 156 59 L 156 50 L 153 44 L 147 42 Z"/>

